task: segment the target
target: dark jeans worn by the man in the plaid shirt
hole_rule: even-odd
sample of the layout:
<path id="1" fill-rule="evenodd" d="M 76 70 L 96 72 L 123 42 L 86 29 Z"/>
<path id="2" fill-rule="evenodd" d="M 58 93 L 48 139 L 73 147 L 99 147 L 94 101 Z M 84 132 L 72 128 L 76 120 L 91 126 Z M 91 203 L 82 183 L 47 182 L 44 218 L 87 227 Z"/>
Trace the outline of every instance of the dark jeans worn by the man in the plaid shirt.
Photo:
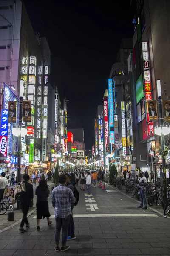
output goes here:
<path id="1" fill-rule="evenodd" d="M 66 245 L 68 225 L 70 223 L 70 215 L 67 218 L 56 217 L 55 244 L 59 245 L 59 236 L 62 227 L 62 246 Z"/>

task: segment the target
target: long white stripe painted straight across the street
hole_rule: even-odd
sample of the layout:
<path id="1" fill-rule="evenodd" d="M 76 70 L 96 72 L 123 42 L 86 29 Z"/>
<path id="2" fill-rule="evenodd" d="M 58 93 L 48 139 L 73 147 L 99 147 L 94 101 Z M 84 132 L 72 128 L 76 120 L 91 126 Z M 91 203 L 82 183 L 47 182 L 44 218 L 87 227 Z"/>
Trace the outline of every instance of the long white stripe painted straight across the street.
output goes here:
<path id="1" fill-rule="evenodd" d="M 73 215 L 74 218 L 82 218 L 82 217 L 158 217 L 156 214 L 137 214 L 137 213 L 118 213 L 118 214 L 74 214 Z M 37 218 L 37 216 L 35 215 L 33 218 Z M 51 215 L 50 218 L 55 218 L 55 215 Z"/>

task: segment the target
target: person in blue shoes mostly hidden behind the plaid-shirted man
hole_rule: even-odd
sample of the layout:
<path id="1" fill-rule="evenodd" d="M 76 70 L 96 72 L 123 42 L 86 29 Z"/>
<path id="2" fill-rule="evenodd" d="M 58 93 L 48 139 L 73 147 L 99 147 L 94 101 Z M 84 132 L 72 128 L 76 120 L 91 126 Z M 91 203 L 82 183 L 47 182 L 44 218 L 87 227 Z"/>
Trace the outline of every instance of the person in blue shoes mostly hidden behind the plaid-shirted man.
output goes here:
<path id="1" fill-rule="evenodd" d="M 66 180 L 66 187 L 71 189 L 71 191 L 74 193 L 74 185 L 71 183 L 71 175 L 66 174 L 67 180 Z M 71 215 L 70 215 L 70 221 L 69 221 L 69 226 L 68 226 L 68 237 L 67 240 L 73 240 L 76 239 L 75 234 L 74 234 L 74 219 L 73 219 L 73 208 L 74 208 L 74 203 L 71 204 Z"/>

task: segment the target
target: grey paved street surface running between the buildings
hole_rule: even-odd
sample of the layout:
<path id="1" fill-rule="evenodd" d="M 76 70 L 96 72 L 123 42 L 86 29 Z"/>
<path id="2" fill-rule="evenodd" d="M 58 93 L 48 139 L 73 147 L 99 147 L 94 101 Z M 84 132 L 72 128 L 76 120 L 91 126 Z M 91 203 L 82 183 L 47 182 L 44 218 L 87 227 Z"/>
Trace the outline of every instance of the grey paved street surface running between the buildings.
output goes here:
<path id="1" fill-rule="evenodd" d="M 78 187 L 79 189 L 79 187 Z M 92 188 L 92 195 L 81 191 L 80 201 L 74 207 L 75 235 L 69 241 L 71 249 L 55 252 L 54 208 L 49 206 L 53 224 L 46 220 L 36 230 L 36 212 L 29 217 L 31 227 L 18 233 L 19 225 L 0 233 L 0 256 L 59 255 L 170 255 L 170 219 L 150 208 L 137 209 L 135 201 L 106 185 Z"/>

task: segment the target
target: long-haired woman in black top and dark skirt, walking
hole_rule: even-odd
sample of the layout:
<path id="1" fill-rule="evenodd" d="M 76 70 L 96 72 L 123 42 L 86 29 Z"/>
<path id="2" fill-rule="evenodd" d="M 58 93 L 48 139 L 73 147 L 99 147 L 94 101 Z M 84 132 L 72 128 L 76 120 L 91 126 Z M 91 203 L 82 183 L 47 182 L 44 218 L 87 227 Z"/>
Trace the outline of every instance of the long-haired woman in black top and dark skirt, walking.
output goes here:
<path id="1" fill-rule="evenodd" d="M 37 195 L 37 230 L 40 231 L 40 219 L 47 218 L 48 226 L 51 225 L 50 212 L 48 210 L 48 185 L 45 179 L 40 180 L 36 188 L 35 195 Z"/>

